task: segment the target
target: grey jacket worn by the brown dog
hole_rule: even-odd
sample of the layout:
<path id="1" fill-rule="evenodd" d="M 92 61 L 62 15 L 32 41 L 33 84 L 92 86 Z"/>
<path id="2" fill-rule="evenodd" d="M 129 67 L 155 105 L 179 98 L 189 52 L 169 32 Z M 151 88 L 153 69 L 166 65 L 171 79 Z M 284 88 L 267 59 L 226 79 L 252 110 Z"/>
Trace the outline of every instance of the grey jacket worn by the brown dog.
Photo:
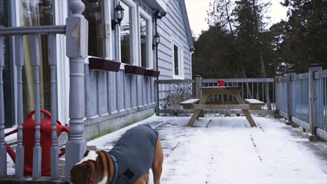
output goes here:
<path id="1" fill-rule="evenodd" d="M 109 151 L 117 159 L 117 184 L 134 183 L 149 171 L 157 139 L 158 132 L 147 124 L 131 128 L 122 135 Z"/>

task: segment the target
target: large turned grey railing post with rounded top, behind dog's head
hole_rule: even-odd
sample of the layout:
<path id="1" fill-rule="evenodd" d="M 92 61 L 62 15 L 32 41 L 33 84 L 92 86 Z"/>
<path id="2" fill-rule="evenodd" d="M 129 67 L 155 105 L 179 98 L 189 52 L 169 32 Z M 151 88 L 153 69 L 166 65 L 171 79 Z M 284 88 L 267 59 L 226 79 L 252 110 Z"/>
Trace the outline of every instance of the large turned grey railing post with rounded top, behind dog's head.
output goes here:
<path id="1" fill-rule="evenodd" d="M 83 138 L 85 122 L 84 60 L 87 57 L 89 25 L 82 15 L 85 5 L 81 0 L 69 1 L 69 10 L 71 10 L 71 15 L 66 19 L 66 55 L 70 65 L 70 139 L 66 144 L 66 181 L 70 181 L 71 168 L 82 159 L 87 149 L 87 142 Z"/>

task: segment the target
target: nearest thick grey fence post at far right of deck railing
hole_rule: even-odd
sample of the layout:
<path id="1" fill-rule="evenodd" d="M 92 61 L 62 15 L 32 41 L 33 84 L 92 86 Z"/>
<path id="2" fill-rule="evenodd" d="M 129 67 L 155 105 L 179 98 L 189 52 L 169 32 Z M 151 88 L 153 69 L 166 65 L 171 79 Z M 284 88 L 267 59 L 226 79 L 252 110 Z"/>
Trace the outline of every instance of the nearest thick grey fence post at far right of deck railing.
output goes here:
<path id="1" fill-rule="evenodd" d="M 309 68 L 309 123 L 311 129 L 310 141 L 317 141 L 316 123 L 317 123 L 317 81 L 314 80 L 314 72 L 322 70 L 321 64 L 315 63 Z"/>

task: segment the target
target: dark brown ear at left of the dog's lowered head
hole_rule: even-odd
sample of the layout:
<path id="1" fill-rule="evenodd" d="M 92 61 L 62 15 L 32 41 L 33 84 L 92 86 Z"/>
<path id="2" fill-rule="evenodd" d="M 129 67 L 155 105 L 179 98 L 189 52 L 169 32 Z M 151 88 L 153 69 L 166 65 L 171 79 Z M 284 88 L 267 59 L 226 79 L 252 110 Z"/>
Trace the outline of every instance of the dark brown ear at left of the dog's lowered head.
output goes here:
<path id="1" fill-rule="evenodd" d="M 72 183 L 92 183 L 92 169 L 85 164 L 77 164 L 71 169 Z"/>

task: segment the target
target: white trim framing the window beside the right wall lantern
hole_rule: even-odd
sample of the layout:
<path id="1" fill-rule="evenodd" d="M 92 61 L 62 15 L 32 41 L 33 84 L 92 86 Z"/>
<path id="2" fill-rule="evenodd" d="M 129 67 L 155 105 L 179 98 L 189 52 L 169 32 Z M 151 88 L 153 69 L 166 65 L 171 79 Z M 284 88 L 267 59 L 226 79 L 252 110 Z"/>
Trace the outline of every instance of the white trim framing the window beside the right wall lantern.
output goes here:
<path id="1" fill-rule="evenodd" d="M 142 8 L 138 8 L 138 47 L 139 47 L 139 63 L 141 66 L 141 48 L 140 48 L 140 16 L 147 20 L 147 68 L 152 69 L 154 66 L 154 60 L 152 59 L 152 17 L 145 12 Z"/>

